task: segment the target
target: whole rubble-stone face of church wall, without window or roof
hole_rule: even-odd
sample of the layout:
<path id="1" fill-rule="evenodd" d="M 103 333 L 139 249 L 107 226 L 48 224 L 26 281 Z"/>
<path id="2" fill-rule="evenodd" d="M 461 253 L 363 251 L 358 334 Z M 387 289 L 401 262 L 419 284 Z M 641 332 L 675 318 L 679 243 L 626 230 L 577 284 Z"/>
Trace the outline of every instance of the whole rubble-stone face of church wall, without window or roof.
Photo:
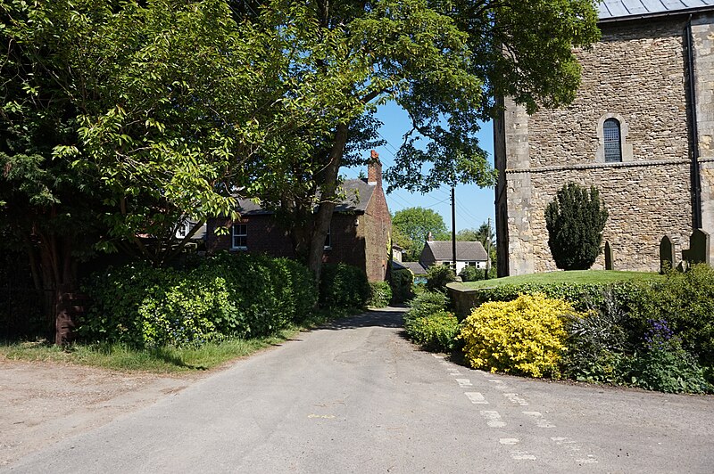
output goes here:
<path id="1" fill-rule="evenodd" d="M 603 245 L 610 241 L 615 269 L 658 270 L 659 243 L 665 234 L 675 242 L 678 256 L 683 244 L 688 246 L 692 192 L 685 20 L 628 22 L 602 29 L 600 43 L 576 51 L 583 66 L 576 101 L 527 118 L 525 126 L 519 125 L 526 130 L 525 139 L 519 136 L 514 141 L 506 128 L 510 274 L 556 269 L 544 210 L 570 181 L 594 184 L 600 190 L 610 212 Z M 598 152 L 606 116 L 615 116 L 622 124 L 622 163 L 604 163 Z M 527 154 L 519 149 L 524 142 Z M 511 159 L 514 155 L 519 159 Z M 603 267 L 601 255 L 594 268 Z"/>

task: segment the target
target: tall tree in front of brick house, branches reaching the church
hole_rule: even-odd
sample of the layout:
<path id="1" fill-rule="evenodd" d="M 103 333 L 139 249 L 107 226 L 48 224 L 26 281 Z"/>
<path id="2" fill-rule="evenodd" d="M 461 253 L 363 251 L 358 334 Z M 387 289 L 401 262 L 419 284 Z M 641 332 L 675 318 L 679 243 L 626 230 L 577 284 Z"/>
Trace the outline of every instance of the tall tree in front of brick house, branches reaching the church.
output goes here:
<path id="1" fill-rule="evenodd" d="M 411 118 L 390 188 L 494 182 L 477 142 L 481 120 L 511 96 L 535 111 L 569 103 L 573 46 L 598 37 L 593 0 L 235 1 L 243 24 L 285 53 L 270 81 L 284 134 L 263 143 L 248 192 L 278 211 L 319 275 L 341 166 L 378 142 L 373 113 L 396 102 Z M 423 145 L 423 146 L 422 146 Z"/>

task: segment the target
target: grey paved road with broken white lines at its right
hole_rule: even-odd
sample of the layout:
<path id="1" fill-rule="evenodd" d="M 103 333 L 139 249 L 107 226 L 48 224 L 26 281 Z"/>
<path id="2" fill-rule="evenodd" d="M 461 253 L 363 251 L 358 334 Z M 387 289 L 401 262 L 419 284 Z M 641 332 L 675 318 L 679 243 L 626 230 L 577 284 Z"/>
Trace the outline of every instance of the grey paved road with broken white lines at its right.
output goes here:
<path id="1" fill-rule="evenodd" d="M 714 471 L 714 397 L 472 371 L 400 324 L 303 333 L 2 472 Z"/>

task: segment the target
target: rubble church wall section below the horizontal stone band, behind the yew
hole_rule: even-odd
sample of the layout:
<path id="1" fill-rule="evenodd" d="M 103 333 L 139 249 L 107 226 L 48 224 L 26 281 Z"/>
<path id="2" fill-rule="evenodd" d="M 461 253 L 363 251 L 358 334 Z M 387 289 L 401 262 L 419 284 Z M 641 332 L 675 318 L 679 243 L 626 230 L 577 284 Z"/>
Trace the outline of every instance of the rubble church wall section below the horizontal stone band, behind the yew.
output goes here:
<path id="1" fill-rule="evenodd" d="M 535 272 L 556 270 L 548 248 L 545 207 L 562 184 L 595 185 L 610 214 L 602 245 L 610 241 L 616 270 L 659 270 L 660 239 L 669 235 L 677 255 L 691 233 L 689 164 L 560 169 L 531 177 L 531 229 Z M 683 212 L 684 209 L 684 212 Z M 604 268 L 601 254 L 593 268 Z"/>

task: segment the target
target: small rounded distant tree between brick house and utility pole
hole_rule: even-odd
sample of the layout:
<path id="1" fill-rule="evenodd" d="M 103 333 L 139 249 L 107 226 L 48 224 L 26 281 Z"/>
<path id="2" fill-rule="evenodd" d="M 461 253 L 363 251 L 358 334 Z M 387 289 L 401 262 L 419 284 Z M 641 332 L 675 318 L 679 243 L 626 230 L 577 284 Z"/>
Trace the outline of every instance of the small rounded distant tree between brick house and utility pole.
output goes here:
<path id="1" fill-rule="evenodd" d="M 392 217 L 392 227 L 395 229 L 395 235 L 405 235 L 409 239 L 410 246 L 405 248 L 407 262 L 419 260 L 429 233 L 435 240 L 446 238 L 444 217 L 428 208 L 404 208 L 396 211 Z"/>

